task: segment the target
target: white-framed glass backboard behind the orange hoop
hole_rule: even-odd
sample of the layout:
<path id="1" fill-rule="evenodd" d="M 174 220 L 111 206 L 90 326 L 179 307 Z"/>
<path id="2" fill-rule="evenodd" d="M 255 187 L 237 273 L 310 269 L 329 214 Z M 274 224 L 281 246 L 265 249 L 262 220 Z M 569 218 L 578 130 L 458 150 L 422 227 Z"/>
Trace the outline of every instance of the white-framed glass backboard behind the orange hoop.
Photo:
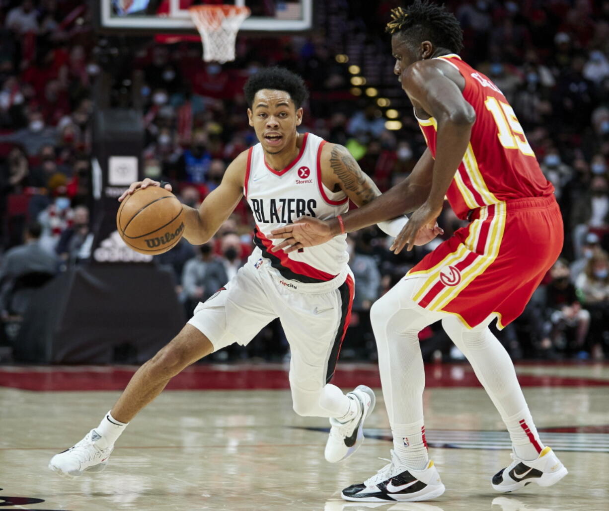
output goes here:
<path id="1" fill-rule="evenodd" d="M 99 27 L 118 32 L 196 33 L 191 5 L 246 5 L 246 32 L 302 32 L 312 28 L 314 0 L 99 0 Z M 123 32 L 124 33 L 124 32 Z"/>

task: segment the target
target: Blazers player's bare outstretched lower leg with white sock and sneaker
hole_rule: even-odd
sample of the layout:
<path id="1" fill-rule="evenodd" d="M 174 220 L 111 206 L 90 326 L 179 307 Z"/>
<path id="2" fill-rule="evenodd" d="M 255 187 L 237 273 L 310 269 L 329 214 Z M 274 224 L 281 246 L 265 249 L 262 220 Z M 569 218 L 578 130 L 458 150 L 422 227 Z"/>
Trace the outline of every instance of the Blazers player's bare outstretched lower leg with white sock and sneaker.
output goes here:
<path id="1" fill-rule="evenodd" d="M 136 413 L 157 397 L 173 376 L 213 349 L 202 332 L 186 324 L 174 340 L 136 371 L 100 425 L 91 429 L 76 445 L 55 454 L 49 469 L 68 478 L 104 470 L 114 442 Z"/>

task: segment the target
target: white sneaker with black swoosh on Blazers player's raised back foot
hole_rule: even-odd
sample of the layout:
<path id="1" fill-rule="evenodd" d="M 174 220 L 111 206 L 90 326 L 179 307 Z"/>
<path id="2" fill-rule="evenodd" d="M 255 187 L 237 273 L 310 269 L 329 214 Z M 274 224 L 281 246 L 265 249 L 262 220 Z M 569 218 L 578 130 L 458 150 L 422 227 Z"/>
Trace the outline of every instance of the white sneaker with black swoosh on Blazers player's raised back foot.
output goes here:
<path id="1" fill-rule="evenodd" d="M 358 403 L 359 413 L 346 423 L 330 419 L 330 435 L 326 443 L 324 455 L 326 461 L 336 463 L 353 454 L 364 441 L 364 421 L 375 408 L 375 393 L 365 385 L 359 385 L 347 396 Z"/>

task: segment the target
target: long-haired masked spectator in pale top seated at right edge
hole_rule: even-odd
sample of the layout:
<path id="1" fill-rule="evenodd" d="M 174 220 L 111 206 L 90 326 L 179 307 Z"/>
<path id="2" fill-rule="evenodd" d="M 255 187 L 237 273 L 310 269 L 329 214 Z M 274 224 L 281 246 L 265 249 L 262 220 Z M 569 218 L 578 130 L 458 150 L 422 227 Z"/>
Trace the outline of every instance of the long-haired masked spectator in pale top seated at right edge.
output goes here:
<path id="1" fill-rule="evenodd" d="M 599 251 L 588 260 L 586 268 L 577 278 L 576 287 L 583 305 L 590 311 L 590 335 L 592 357 L 604 358 L 609 345 L 609 257 Z"/>

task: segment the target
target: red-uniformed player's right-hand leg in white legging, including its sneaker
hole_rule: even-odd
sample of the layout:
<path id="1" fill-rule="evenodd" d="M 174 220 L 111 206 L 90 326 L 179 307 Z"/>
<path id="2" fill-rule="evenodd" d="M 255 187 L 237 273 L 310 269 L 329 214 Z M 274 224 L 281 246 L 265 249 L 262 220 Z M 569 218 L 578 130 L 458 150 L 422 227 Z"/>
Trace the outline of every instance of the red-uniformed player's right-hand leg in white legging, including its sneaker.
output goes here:
<path id="1" fill-rule="evenodd" d="M 568 473 L 552 449 L 539 438 L 509 355 L 487 323 L 466 328 L 457 318 L 442 320 L 446 334 L 470 361 L 507 427 L 512 463 L 493 477 L 498 491 L 514 491 L 530 482 L 550 486 Z"/>

